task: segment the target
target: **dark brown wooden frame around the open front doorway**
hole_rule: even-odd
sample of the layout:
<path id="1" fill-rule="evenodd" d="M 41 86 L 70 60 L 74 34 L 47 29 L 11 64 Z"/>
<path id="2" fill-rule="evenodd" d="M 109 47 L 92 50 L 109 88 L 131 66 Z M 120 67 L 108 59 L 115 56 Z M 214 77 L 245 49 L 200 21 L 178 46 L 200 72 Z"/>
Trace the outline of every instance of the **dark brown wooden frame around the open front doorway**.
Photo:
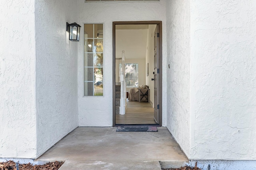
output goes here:
<path id="1" fill-rule="evenodd" d="M 162 126 L 162 21 L 114 21 L 112 27 L 113 40 L 113 127 L 116 126 L 116 25 L 159 25 L 159 125 Z"/>

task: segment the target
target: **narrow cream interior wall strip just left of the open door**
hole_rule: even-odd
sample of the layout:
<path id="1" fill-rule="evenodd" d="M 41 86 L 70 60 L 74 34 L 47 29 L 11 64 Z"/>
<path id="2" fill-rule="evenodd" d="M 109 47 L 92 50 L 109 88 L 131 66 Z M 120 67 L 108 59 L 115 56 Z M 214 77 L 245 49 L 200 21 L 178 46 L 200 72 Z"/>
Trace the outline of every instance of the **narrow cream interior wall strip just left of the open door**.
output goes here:
<path id="1" fill-rule="evenodd" d="M 148 64 L 148 76 L 146 76 L 146 84 L 150 88 L 150 103 L 154 106 L 154 31 L 156 25 L 148 25 L 148 38 L 146 47 L 146 66 Z"/>

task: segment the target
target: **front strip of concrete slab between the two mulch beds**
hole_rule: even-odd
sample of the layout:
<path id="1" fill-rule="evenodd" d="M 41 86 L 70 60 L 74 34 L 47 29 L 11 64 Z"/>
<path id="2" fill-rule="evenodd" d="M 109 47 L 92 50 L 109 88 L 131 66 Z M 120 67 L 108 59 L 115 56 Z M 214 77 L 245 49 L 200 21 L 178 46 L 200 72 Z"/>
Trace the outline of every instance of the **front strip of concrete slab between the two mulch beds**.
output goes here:
<path id="1" fill-rule="evenodd" d="M 161 170 L 158 161 L 67 160 L 59 170 Z"/>

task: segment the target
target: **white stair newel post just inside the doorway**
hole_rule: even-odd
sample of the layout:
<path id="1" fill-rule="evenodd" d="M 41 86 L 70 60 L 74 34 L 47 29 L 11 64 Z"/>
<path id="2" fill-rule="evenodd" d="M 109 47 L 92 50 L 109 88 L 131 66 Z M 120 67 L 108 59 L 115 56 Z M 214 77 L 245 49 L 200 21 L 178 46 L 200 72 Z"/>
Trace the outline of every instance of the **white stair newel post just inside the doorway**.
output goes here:
<path id="1" fill-rule="evenodd" d="M 120 115 L 125 114 L 125 109 L 126 109 L 126 81 L 125 81 L 125 55 L 124 55 L 124 50 L 122 51 L 122 71 L 120 74 L 120 82 L 121 82 L 121 94 L 120 94 Z"/>

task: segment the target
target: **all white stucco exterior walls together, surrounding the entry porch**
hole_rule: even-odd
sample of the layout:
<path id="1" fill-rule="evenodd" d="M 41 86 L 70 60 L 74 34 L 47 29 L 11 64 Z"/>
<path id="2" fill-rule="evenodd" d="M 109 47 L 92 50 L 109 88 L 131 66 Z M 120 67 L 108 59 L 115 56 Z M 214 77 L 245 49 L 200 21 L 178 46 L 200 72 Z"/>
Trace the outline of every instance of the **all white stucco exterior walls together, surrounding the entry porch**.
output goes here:
<path id="1" fill-rule="evenodd" d="M 200 164 L 256 160 L 253 0 L 6 0 L 0 11 L 1 158 L 37 158 L 78 125 L 111 126 L 112 21 L 161 20 L 163 126 Z M 83 97 L 83 40 L 68 40 L 66 21 L 104 23 L 104 97 Z"/>

